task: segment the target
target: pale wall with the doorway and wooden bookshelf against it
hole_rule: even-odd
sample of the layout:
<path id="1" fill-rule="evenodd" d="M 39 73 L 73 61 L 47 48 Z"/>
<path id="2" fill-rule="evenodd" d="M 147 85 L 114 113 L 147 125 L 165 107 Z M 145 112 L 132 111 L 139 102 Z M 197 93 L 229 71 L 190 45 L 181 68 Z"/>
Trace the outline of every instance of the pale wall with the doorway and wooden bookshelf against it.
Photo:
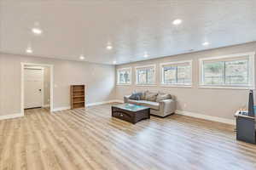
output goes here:
<path id="1" fill-rule="evenodd" d="M 86 84 L 86 103 L 115 98 L 115 71 L 112 65 L 0 54 L 0 116 L 20 113 L 20 62 L 54 65 L 54 106 L 70 106 L 70 85 Z"/>

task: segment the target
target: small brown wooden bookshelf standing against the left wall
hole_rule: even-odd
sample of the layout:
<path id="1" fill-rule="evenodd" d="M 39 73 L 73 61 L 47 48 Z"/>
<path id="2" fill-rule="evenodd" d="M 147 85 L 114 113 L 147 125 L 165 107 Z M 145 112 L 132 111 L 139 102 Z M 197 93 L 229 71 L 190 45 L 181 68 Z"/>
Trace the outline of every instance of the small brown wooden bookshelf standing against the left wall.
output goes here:
<path id="1" fill-rule="evenodd" d="M 85 86 L 71 85 L 70 87 L 70 103 L 71 109 L 82 108 L 85 104 Z"/>

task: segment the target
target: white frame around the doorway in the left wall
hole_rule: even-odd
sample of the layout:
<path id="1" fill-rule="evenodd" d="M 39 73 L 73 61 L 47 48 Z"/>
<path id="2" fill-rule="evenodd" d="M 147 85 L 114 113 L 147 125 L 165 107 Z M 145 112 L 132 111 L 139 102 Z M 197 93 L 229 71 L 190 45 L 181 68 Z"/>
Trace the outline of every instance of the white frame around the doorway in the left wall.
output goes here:
<path id="1" fill-rule="evenodd" d="M 54 103 L 53 103 L 53 97 L 54 97 L 54 65 L 45 65 L 45 64 L 38 64 L 38 63 L 20 63 L 21 65 L 21 78 L 20 78 L 20 113 L 22 116 L 24 116 L 24 69 L 25 65 L 34 65 L 34 66 L 48 66 L 49 67 L 49 74 L 50 74 L 50 97 L 49 97 L 49 111 L 52 113 Z M 44 102 L 44 101 L 43 101 Z"/>

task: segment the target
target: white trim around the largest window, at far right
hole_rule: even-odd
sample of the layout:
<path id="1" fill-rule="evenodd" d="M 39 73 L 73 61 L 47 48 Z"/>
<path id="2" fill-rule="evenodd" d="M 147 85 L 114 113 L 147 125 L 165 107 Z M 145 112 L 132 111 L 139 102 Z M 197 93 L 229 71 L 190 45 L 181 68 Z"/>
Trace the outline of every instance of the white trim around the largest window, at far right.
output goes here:
<path id="1" fill-rule="evenodd" d="M 242 56 L 248 56 L 249 62 L 248 62 L 248 74 L 249 74 L 249 84 L 248 85 L 207 85 L 203 84 L 203 62 L 207 60 L 212 59 L 229 59 L 229 58 L 236 58 L 236 57 L 242 57 Z M 255 52 L 248 52 L 248 53 L 241 53 L 241 54 L 230 54 L 230 55 L 222 55 L 222 56 L 216 56 L 216 57 L 207 57 L 207 58 L 201 58 L 199 59 L 199 87 L 198 88 L 222 88 L 222 89 L 255 89 L 255 80 L 254 80 L 254 57 Z"/>

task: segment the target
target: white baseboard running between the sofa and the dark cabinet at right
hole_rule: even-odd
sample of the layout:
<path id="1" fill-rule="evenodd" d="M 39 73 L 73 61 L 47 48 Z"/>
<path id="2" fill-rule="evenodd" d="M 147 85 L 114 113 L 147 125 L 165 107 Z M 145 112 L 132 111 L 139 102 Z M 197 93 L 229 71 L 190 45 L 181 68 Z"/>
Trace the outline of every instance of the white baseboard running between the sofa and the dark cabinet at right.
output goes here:
<path id="1" fill-rule="evenodd" d="M 226 119 L 226 118 L 221 118 L 221 117 L 217 117 L 217 116 L 207 116 L 207 115 L 202 115 L 200 113 L 192 113 L 189 111 L 177 111 L 176 110 L 175 113 L 178 115 L 192 116 L 192 117 L 205 119 L 205 120 L 213 121 L 213 122 L 223 122 L 223 123 L 230 124 L 230 125 L 236 125 L 235 119 L 232 120 L 232 119 Z"/>

